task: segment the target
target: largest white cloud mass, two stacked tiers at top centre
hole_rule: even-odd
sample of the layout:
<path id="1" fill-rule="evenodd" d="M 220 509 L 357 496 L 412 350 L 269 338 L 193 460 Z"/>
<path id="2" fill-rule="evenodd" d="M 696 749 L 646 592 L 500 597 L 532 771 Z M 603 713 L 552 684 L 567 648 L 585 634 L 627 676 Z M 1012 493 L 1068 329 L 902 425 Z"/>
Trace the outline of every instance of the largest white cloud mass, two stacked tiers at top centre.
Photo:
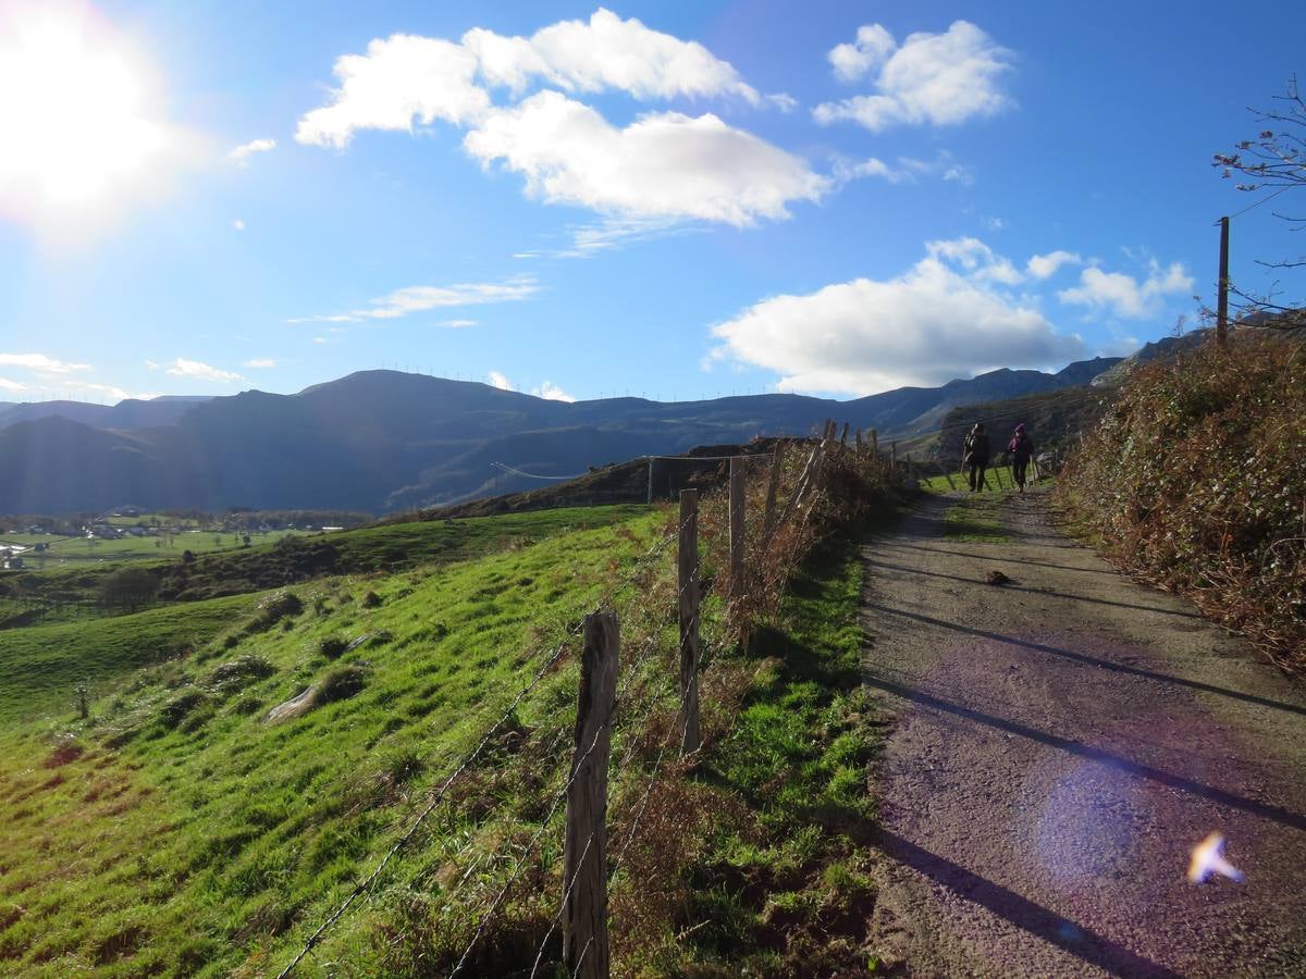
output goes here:
<path id="1" fill-rule="evenodd" d="M 816 201 L 835 183 L 712 114 L 653 112 L 619 128 L 563 94 L 798 104 L 784 93 L 760 95 L 697 42 L 603 8 L 529 38 L 481 27 L 461 43 L 396 34 L 372 40 L 364 55 L 345 55 L 333 70 L 340 87 L 299 120 L 299 142 L 342 148 L 359 129 L 411 132 L 443 120 L 468 128 L 464 148 L 482 166 L 502 162 L 522 174 L 530 196 L 623 219 L 746 226 L 788 217 L 789 202 Z M 537 82 L 550 89 L 517 101 Z M 495 87 L 508 89 L 515 104 L 494 106 Z"/>

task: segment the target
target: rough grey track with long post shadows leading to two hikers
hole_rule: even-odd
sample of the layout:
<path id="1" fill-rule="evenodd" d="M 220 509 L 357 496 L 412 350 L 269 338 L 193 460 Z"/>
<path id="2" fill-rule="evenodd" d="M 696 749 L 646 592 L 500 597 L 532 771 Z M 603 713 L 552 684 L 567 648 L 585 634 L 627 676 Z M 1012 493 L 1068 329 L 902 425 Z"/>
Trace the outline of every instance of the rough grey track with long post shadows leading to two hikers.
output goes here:
<path id="1" fill-rule="evenodd" d="M 917 976 L 1306 976 L 1306 691 L 1185 602 L 983 500 L 865 547 L 879 764 L 872 937 Z M 1013 582 L 985 583 L 989 570 Z M 1218 830 L 1246 882 L 1185 880 Z"/>

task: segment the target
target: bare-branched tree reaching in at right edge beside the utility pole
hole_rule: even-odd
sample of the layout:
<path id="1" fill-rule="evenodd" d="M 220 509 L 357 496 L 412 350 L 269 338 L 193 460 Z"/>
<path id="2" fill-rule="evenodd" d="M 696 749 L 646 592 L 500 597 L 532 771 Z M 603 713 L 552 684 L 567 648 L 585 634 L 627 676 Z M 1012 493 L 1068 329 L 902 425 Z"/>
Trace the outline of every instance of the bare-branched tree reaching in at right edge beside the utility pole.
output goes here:
<path id="1" fill-rule="evenodd" d="M 1243 140 L 1234 146 L 1233 153 L 1215 154 L 1212 163 L 1226 180 L 1239 179 L 1238 191 L 1269 192 L 1256 204 L 1289 191 L 1306 188 L 1306 99 L 1297 86 L 1297 76 L 1288 80 L 1286 93 L 1276 95 L 1275 102 L 1280 104 L 1272 111 L 1251 110 L 1262 125 L 1255 138 Z M 1294 231 L 1306 228 L 1306 217 L 1282 211 L 1273 214 L 1288 222 Z M 1281 261 L 1258 261 L 1258 265 L 1269 269 L 1301 269 L 1306 268 L 1306 255 Z M 1242 300 L 1243 319 L 1250 319 L 1256 325 L 1279 329 L 1306 326 L 1306 308 L 1277 302 L 1275 291 L 1268 295 L 1251 295 L 1233 283 L 1229 291 Z"/>

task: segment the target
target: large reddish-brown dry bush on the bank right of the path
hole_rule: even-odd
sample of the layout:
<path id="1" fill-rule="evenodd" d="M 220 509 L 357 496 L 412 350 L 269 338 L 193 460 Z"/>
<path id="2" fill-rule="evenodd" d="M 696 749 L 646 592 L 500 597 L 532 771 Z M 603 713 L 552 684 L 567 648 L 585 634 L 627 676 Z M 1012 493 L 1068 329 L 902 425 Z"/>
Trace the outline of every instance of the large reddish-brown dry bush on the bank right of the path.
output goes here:
<path id="1" fill-rule="evenodd" d="M 1306 668 L 1306 349 L 1235 334 L 1136 371 L 1059 493 L 1140 577 Z"/>

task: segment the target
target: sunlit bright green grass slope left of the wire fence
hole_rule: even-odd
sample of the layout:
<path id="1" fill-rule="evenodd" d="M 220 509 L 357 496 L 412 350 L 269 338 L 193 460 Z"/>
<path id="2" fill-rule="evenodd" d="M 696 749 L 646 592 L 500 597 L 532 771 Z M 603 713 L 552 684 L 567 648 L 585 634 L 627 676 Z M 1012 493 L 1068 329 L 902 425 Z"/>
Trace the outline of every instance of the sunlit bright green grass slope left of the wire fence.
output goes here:
<path id="1" fill-rule="evenodd" d="M 461 564 L 311 582 L 276 621 L 240 597 L 5 633 L 0 971 L 261 971 L 390 843 L 541 644 L 646 548 L 661 517 L 641 509 Z M 167 657 L 183 637 L 193 651 Z M 81 722 L 64 688 L 91 666 L 108 692 Z M 313 683 L 341 700 L 264 723 Z M 564 668 L 518 722 L 573 700 Z M 458 839 L 431 841 L 400 878 Z M 350 922 L 342 948 L 372 925 Z"/>

